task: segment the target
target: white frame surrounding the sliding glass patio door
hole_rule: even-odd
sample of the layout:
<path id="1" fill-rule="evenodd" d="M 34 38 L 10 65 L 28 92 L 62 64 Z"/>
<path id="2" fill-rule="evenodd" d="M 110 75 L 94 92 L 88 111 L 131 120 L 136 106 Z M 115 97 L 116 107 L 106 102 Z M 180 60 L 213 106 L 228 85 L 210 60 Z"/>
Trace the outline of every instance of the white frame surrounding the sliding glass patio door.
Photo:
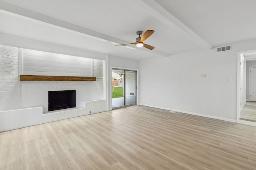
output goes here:
<path id="1" fill-rule="evenodd" d="M 139 103 L 139 69 L 136 68 L 126 68 L 118 66 L 110 66 L 110 73 L 112 75 L 112 69 L 116 70 L 126 70 L 126 71 L 136 71 L 136 105 Z M 112 110 L 112 76 L 109 76 L 109 87 L 108 87 L 108 110 Z M 124 80 L 125 82 L 125 80 Z M 130 106 L 130 105 L 129 105 Z M 125 107 L 125 106 L 124 106 Z M 118 107 L 116 107 L 118 108 Z"/>

